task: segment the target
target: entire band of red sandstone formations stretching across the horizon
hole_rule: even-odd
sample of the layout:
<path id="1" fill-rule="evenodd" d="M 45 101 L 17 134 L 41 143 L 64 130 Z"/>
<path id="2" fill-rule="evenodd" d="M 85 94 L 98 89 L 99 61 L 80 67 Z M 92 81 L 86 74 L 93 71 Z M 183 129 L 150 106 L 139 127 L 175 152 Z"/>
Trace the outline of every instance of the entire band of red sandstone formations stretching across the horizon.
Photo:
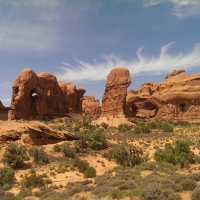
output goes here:
<path id="1" fill-rule="evenodd" d="M 128 69 L 116 67 L 108 74 L 102 106 L 84 88 L 70 82 L 57 82 L 55 76 L 24 69 L 12 84 L 10 110 L 0 102 L 0 120 L 64 116 L 83 113 L 98 123 L 126 123 L 127 117 L 170 120 L 200 120 L 200 74 L 187 75 L 174 70 L 161 83 L 144 83 L 138 90 L 131 83 Z M 8 111 L 9 110 L 9 111 Z M 3 114 L 2 114 L 3 113 Z M 110 122 L 110 123 L 109 123 Z"/>

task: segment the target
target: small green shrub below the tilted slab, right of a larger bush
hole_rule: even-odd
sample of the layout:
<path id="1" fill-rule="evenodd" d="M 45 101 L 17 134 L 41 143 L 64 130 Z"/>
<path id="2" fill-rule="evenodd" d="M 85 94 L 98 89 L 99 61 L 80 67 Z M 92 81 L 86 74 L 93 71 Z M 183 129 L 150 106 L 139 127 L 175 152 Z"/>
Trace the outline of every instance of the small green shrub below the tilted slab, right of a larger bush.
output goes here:
<path id="1" fill-rule="evenodd" d="M 45 165 L 49 163 L 49 157 L 44 151 L 44 147 L 33 146 L 29 149 L 29 154 L 33 157 L 33 160 L 36 164 Z"/>

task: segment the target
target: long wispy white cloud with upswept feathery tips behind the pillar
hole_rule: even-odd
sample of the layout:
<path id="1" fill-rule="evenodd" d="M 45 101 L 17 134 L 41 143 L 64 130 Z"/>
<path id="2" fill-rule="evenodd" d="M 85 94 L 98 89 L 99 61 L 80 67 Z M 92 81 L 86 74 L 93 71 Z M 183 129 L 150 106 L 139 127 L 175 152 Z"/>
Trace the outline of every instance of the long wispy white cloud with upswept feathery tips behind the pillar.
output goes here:
<path id="1" fill-rule="evenodd" d="M 61 71 L 56 74 L 58 80 L 64 81 L 94 81 L 105 80 L 108 73 L 116 66 L 124 66 L 129 69 L 131 75 L 169 73 L 174 69 L 195 69 L 200 67 L 200 43 L 196 44 L 192 51 L 183 55 L 170 55 L 168 53 L 172 43 L 161 48 L 158 57 L 142 55 L 142 48 L 136 52 L 138 59 L 126 61 L 118 56 L 104 56 L 105 62 L 85 63 L 78 61 L 78 66 L 62 63 Z"/>

